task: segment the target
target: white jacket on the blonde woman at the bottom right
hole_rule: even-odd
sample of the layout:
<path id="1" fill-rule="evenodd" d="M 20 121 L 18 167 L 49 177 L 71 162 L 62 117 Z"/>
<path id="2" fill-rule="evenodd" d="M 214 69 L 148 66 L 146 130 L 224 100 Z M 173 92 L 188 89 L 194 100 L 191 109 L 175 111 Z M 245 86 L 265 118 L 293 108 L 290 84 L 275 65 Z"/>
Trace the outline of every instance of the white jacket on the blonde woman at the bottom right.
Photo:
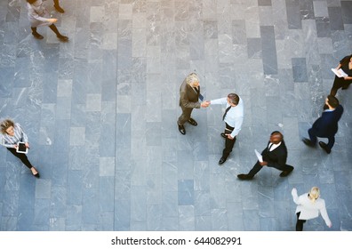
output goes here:
<path id="1" fill-rule="evenodd" d="M 326 223 L 326 226 L 330 227 L 332 221 L 330 221 L 329 216 L 326 212 L 325 201 L 322 198 L 317 198 L 315 202 L 312 202 L 308 198 L 308 193 L 297 195 L 297 189 L 292 189 L 292 197 L 295 204 L 297 204 L 296 213 L 300 212 L 300 220 L 310 220 L 318 217 L 319 212 Z"/>

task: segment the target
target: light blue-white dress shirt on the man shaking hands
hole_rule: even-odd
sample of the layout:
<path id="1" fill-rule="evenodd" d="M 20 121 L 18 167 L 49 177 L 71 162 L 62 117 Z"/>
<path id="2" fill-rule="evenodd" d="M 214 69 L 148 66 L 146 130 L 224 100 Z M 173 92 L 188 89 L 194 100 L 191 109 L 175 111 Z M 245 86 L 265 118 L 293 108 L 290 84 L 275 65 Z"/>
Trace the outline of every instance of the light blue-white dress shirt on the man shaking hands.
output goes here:
<path id="1" fill-rule="evenodd" d="M 221 98 L 217 100 L 211 100 L 212 105 L 226 105 L 228 108 L 228 98 Z M 238 105 L 232 107 L 228 110 L 228 113 L 224 119 L 225 123 L 234 127 L 235 129 L 231 133 L 231 137 L 236 137 L 236 135 L 241 131 L 242 123 L 244 122 L 244 100 L 239 98 Z"/>

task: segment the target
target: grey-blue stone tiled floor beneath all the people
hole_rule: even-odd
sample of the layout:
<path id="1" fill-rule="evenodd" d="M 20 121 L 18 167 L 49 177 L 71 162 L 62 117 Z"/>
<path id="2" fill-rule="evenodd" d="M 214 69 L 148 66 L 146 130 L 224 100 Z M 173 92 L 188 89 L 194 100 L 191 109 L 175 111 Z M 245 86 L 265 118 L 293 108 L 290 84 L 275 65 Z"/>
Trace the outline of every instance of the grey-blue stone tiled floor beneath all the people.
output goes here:
<path id="1" fill-rule="evenodd" d="M 301 141 L 339 60 L 352 52 L 352 1 L 61 0 L 45 4 L 69 36 L 30 34 L 23 0 L 0 2 L 0 116 L 28 133 L 37 180 L 0 149 L 1 230 L 293 230 L 299 194 L 322 190 L 306 230 L 352 230 L 352 90 L 330 155 Z M 244 126 L 218 165 L 224 108 L 194 110 L 182 136 L 179 87 L 196 70 L 206 99 L 237 92 Z M 255 163 L 274 130 L 280 178 Z"/>

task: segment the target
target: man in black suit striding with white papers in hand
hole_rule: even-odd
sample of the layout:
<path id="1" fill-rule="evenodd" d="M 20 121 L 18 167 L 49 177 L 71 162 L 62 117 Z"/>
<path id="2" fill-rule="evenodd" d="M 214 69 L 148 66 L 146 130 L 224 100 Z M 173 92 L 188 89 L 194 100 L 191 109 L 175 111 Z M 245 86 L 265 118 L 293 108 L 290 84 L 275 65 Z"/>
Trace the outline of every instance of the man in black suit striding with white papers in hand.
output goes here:
<path id="1" fill-rule="evenodd" d="M 257 161 L 249 173 L 241 173 L 238 174 L 237 177 L 241 180 L 252 180 L 254 175 L 258 173 L 263 166 L 273 167 L 282 171 L 282 173 L 280 173 L 281 177 L 289 175 L 294 169 L 291 165 L 286 165 L 287 148 L 284 144 L 284 135 L 280 132 L 275 131 L 271 133 L 268 146 L 261 152 L 261 156 L 263 162 Z"/>

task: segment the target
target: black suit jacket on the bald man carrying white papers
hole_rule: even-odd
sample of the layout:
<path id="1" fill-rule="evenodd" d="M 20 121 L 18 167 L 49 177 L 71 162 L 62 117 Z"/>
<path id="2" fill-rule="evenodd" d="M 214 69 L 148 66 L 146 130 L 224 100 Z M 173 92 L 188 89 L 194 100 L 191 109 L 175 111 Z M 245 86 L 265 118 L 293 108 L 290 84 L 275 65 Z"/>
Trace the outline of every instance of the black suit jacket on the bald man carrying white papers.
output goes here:
<path id="1" fill-rule="evenodd" d="M 270 141 L 268 141 L 269 145 Z M 267 148 L 261 152 L 263 161 L 268 162 L 268 165 L 274 166 L 276 168 L 283 168 L 286 165 L 287 160 L 287 148 L 284 141 L 274 150 L 269 151 Z"/>

